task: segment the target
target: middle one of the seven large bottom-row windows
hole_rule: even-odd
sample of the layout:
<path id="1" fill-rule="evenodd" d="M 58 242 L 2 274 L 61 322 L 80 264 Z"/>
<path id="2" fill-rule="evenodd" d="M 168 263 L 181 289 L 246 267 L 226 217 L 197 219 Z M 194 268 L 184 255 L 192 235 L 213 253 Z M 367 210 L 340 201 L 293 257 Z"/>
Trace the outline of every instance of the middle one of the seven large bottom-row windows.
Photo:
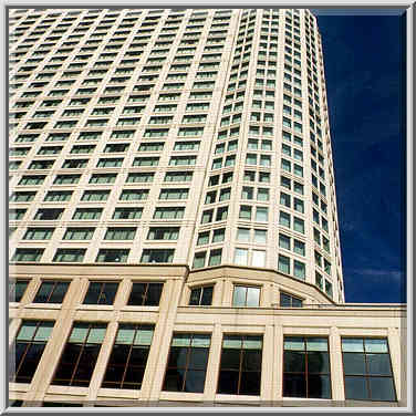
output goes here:
<path id="1" fill-rule="evenodd" d="M 210 341 L 208 334 L 174 333 L 164 391 L 204 393 Z"/>

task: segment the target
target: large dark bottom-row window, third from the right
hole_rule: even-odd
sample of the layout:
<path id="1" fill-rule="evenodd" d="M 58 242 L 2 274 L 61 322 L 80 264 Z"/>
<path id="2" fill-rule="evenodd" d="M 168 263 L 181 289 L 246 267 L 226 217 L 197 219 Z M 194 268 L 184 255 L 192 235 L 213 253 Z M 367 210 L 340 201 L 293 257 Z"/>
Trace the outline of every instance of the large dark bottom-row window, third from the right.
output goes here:
<path id="1" fill-rule="evenodd" d="M 260 395 L 261 335 L 223 335 L 217 393 Z"/>

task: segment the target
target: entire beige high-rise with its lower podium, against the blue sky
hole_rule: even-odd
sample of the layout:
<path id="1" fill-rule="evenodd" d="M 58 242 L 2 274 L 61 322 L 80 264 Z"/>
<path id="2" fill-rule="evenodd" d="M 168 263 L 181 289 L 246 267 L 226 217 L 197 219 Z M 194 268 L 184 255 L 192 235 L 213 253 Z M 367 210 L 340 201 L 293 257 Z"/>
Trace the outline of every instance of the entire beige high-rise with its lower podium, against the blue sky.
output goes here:
<path id="1" fill-rule="evenodd" d="M 344 304 L 308 10 L 9 21 L 12 399 L 403 403 L 404 306 Z"/>

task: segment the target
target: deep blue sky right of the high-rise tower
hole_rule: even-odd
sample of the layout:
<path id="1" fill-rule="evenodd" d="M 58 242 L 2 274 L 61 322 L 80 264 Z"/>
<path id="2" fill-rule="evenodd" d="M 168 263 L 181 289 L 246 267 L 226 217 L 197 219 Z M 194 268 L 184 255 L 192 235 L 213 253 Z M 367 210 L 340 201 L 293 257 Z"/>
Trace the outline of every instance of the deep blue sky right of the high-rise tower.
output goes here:
<path id="1" fill-rule="evenodd" d="M 313 10 L 323 43 L 347 302 L 405 302 L 403 19 Z"/>

